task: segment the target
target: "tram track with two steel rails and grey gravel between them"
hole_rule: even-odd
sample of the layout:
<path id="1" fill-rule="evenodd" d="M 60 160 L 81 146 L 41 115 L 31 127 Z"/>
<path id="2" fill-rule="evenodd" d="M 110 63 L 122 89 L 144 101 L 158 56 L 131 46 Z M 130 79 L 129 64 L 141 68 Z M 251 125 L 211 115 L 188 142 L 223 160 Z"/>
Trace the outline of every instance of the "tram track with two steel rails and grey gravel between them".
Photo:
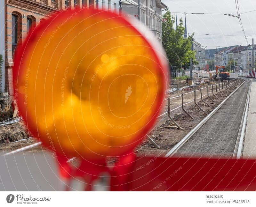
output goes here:
<path id="1" fill-rule="evenodd" d="M 229 147 L 229 149 L 227 150 L 229 152 L 227 152 L 225 154 L 225 156 L 228 156 L 231 158 L 237 158 L 237 159 L 241 158 L 243 143 L 244 143 L 244 133 L 245 133 L 246 118 L 247 118 L 247 109 L 248 109 L 249 98 L 250 98 L 250 88 L 251 88 L 251 80 L 247 79 L 243 83 L 241 83 L 241 85 L 239 85 L 232 93 L 230 93 L 228 95 L 228 97 L 225 98 L 209 115 L 207 115 L 199 124 L 196 125 L 196 127 L 194 127 L 185 137 L 183 137 L 180 140 L 180 142 L 178 142 L 165 155 L 165 157 L 171 157 L 173 155 L 175 155 L 175 156 L 176 155 L 177 156 L 182 156 L 182 155 L 183 156 L 184 155 L 186 155 L 186 156 L 193 156 L 193 155 L 194 156 L 196 156 L 196 155 L 202 156 L 203 154 L 205 154 L 205 155 L 207 154 L 210 156 L 216 156 L 217 154 L 220 155 L 221 153 L 225 154 L 224 151 L 221 153 L 217 153 L 218 152 L 218 149 L 217 149 L 218 144 L 221 145 L 220 148 L 221 147 L 225 148 L 224 145 L 226 144 L 226 145 L 228 145 L 228 146 L 226 146 L 227 149 Z M 241 92 L 243 92 L 243 91 L 244 91 L 244 93 L 242 94 Z M 238 95 L 236 95 L 236 97 L 234 97 L 234 94 L 238 94 Z M 237 100 L 241 100 L 240 101 L 241 103 L 238 107 L 239 110 L 237 110 L 237 113 L 234 113 L 234 111 L 232 111 L 232 113 L 234 113 L 234 115 L 232 114 L 232 117 L 238 118 L 241 116 L 241 120 L 240 120 L 240 124 L 239 124 L 239 130 L 237 130 L 238 133 L 237 133 L 235 142 L 233 140 L 233 137 L 230 136 L 231 138 L 229 137 L 229 140 L 225 143 L 223 141 L 225 139 L 225 137 L 218 137 L 218 135 L 221 135 L 221 134 L 223 135 L 226 133 L 227 137 L 228 137 L 229 131 L 230 130 L 234 131 L 234 129 L 232 128 L 232 124 L 233 125 L 236 124 L 235 121 L 237 121 L 237 120 L 231 120 L 232 118 L 228 117 L 227 112 L 226 112 L 227 117 L 228 117 L 227 126 L 225 126 L 225 123 L 224 123 L 224 125 L 223 124 L 221 125 L 221 123 L 220 123 L 219 129 L 216 128 L 216 129 L 213 129 L 212 131 L 209 129 L 209 130 L 207 130 L 208 132 L 205 132 L 204 131 L 205 129 L 202 129 L 202 128 L 207 129 L 207 127 L 208 127 L 207 124 L 209 124 L 209 122 L 211 122 L 211 125 L 212 125 L 214 120 L 221 116 L 221 113 L 222 113 L 222 112 L 220 112 L 221 107 L 224 104 L 226 105 L 231 97 L 233 97 L 235 102 L 237 102 Z M 242 102 L 244 103 L 244 106 L 242 106 L 243 105 Z M 234 110 L 236 110 L 236 109 L 234 109 Z M 217 113 L 219 115 L 216 115 Z M 216 116 L 216 117 L 214 117 L 214 116 Z M 223 133 L 223 129 L 227 130 L 227 132 Z M 215 130 L 216 134 L 214 134 L 214 130 Z M 211 136 L 213 138 L 210 138 Z M 214 144 L 214 141 L 216 141 L 217 144 Z M 233 146 L 233 144 L 231 144 L 231 143 L 235 143 L 234 144 L 235 146 Z M 214 149 L 214 147 L 216 147 L 216 149 Z M 231 148 L 234 148 L 232 153 L 230 153 Z M 221 149 L 221 150 L 223 150 L 223 149 Z M 214 151 L 216 153 L 214 153 Z"/>

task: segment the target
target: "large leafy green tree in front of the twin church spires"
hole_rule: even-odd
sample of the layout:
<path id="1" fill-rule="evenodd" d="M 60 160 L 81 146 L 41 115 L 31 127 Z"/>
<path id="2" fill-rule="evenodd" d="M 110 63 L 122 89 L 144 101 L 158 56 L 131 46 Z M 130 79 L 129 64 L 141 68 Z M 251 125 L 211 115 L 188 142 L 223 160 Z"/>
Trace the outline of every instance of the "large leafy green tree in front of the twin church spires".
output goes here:
<path id="1" fill-rule="evenodd" d="M 195 59 L 196 51 L 191 50 L 191 38 L 193 38 L 194 33 L 188 35 L 188 38 L 183 38 L 185 27 L 182 18 L 180 18 L 180 23 L 175 31 L 173 29 L 175 18 L 168 9 L 163 18 L 167 21 L 162 22 L 162 44 L 170 65 L 177 69 L 182 67 L 187 69 L 190 66 L 190 58 L 192 58 L 193 64 L 198 64 Z"/>

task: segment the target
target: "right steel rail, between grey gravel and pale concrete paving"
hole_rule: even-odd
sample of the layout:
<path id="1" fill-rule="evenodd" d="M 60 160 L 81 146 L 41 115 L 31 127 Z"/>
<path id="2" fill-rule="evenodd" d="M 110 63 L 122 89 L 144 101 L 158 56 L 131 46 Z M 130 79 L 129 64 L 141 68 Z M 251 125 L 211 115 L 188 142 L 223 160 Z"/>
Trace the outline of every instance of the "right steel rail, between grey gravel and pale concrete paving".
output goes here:
<path id="1" fill-rule="evenodd" d="M 233 159 L 240 159 L 241 154 L 242 154 L 242 148 L 243 148 L 243 144 L 244 144 L 244 135 L 245 135 L 245 125 L 246 125 L 246 121 L 247 121 L 248 107 L 249 107 L 249 100 L 250 100 L 251 86 L 252 86 L 252 81 L 250 80 L 250 86 L 249 86 L 249 90 L 248 90 L 247 97 L 246 97 L 243 117 L 242 117 L 242 120 L 241 120 L 240 128 L 239 128 L 237 139 L 236 139 L 236 145 L 235 145 L 235 150 L 234 150 L 234 153 L 233 153 Z"/>

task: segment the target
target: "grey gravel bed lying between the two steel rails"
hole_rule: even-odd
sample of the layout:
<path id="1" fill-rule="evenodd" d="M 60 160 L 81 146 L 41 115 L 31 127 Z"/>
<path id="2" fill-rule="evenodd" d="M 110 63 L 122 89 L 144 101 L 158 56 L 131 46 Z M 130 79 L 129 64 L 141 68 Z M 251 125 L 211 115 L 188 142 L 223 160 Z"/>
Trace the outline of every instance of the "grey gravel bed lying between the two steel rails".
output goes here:
<path id="1" fill-rule="evenodd" d="M 249 85 L 246 80 L 175 156 L 232 157 Z"/>

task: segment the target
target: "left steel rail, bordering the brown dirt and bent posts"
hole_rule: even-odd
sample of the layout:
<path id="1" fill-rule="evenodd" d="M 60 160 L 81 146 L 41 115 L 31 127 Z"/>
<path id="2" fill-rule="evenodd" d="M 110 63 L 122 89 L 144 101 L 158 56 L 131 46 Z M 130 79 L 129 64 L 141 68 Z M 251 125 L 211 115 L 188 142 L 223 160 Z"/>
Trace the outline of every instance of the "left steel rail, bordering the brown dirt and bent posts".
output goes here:
<path id="1" fill-rule="evenodd" d="M 244 82 L 245 82 L 245 81 L 244 81 Z M 192 129 L 190 132 L 188 132 L 188 134 L 187 134 L 185 137 L 183 137 L 183 138 L 180 140 L 180 142 L 178 142 L 164 157 L 171 157 L 172 155 L 174 155 L 174 154 L 180 149 L 180 147 L 182 147 L 182 146 L 190 139 L 190 137 L 192 137 L 192 136 L 196 133 L 196 131 L 197 131 L 198 129 L 200 129 L 200 128 L 204 125 L 204 123 L 205 123 L 216 111 L 218 111 L 218 110 L 220 109 L 220 107 L 237 91 L 237 89 L 240 88 L 241 85 L 244 84 L 244 82 L 241 83 L 232 93 L 230 93 L 230 94 L 228 95 L 228 97 L 227 97 L 226 99 L 224 99 L 216 108 L 214 108 L 214 109 L 212 110 L 212 112 L 211 112 L 209 115 L 207 115 L 199 124 L 197 124 L 194 129 Z"/>

